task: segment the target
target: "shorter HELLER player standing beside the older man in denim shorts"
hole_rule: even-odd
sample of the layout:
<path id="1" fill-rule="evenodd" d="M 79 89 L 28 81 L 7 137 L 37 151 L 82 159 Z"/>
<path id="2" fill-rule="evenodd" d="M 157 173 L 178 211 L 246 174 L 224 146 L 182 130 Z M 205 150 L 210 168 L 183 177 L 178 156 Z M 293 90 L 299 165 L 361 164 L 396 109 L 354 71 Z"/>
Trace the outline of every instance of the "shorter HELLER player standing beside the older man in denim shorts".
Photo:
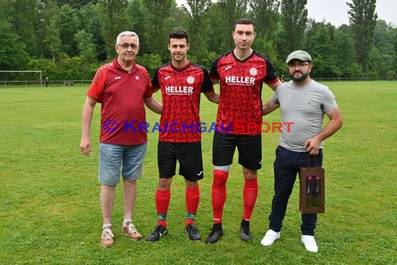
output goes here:
<path id="1" fill-rule="evenodd" d="M 194 218 L 200 199 L 198 180 L 203 179 L 204 174 L 198 108 L 201 92 L 213 103 L 219 102 L 219 94 L 214 91 L 208 71 L 187 60 L 189 37 L 186 31 L 171 31 L 168 42 L 171 63 L 159 67 L 152 82 L 153 89 L 162 92 L 163 109 L 157 150 L 159 183 L 155 194 L 158 220 L 147 240 L 157 241 L 167 232 L 171 182 L 178 160 L 179 174 L 186 183 L 185 232 L 189 234 L 189 239 L 199 241 L 201 235 L 194 225 Z"/>

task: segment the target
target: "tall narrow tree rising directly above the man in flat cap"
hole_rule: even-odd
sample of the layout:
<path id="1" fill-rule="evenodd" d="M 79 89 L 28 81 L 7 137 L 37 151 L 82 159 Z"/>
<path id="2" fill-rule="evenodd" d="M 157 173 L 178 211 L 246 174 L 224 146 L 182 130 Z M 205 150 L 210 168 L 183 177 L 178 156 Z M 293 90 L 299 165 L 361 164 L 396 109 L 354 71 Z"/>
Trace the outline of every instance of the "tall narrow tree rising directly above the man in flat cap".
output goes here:
<path id="1" fill-rule="evenodd" d="M 281 22 L 286 33 L 286 50 L 290 52 L 303 49 L 307 27 L 306 4 L 307 0 L 281 0 Z"/>

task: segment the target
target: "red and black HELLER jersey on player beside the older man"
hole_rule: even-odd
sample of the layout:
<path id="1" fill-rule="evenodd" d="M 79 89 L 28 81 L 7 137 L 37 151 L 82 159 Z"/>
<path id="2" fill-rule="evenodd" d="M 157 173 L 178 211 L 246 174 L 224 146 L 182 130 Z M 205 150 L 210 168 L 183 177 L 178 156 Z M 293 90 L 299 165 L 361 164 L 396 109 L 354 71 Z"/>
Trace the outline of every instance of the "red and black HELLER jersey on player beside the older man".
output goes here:
<path id="1" fill-rule="evenodd" d="M 183 68 L 167 63 L 156 70 L 152 85 L 162 91 L 159 140 L 200 142 L 201 92 L 214 90 L 207 70 L 190 62 Z"/>

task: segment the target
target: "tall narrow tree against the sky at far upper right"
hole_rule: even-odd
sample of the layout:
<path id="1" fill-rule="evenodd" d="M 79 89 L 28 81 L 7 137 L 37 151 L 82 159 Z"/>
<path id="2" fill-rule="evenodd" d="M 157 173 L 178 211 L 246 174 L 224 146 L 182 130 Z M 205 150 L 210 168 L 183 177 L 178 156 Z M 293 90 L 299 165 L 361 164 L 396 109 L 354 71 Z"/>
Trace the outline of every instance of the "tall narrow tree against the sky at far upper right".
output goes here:
<path id="1" fill-rule="evenodd" d="M 352 0 L 346 3 L 350 27 L 355 40 L 355 50 L 359 65 L 368 69 L 368 56 L 373 47 L 373 31 L 377 20 L 376 0 Z"/>

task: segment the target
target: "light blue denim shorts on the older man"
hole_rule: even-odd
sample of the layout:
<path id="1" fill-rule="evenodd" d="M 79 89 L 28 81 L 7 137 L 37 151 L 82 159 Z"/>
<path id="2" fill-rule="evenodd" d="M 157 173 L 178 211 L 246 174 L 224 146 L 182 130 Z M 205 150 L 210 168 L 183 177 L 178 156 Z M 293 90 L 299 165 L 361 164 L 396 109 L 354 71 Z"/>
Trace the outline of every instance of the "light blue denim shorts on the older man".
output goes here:
<path id="1" fill-rule="evenodd" d="M 98 180 L 105 185 L 116 185 L 120 181 L 120 172 L 124 179 L 139 179 L 142 176 L 146 146 L 146 143 L 137 145 L 101 143 Z"/>

